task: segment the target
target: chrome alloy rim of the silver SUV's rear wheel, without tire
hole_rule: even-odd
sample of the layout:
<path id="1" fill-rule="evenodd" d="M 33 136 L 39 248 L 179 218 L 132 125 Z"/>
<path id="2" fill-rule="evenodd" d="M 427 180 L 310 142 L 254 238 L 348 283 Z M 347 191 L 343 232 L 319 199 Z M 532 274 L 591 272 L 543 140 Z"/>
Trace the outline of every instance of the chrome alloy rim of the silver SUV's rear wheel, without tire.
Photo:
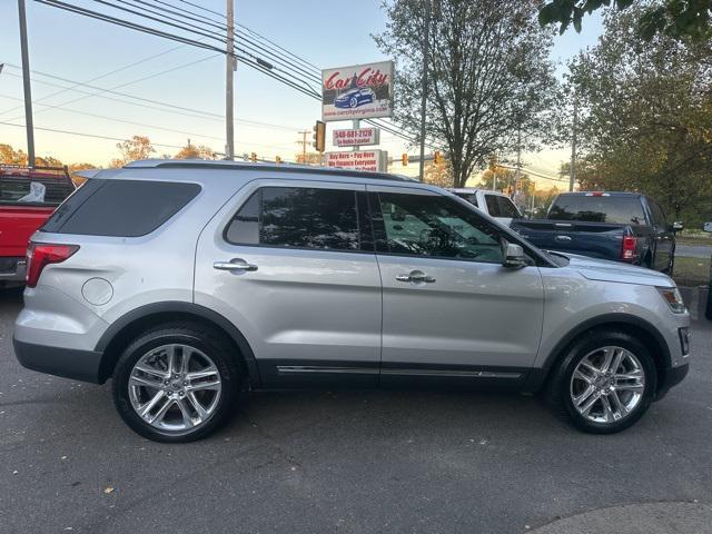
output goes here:
<path id="1" fill-rule="evenodd" d="M 221 392 L 220 373 L 202 352 L 162 345 L 139 358 L 128 380 L 136 413 L 161 431 L 182 432 L 205 424 Z"/>

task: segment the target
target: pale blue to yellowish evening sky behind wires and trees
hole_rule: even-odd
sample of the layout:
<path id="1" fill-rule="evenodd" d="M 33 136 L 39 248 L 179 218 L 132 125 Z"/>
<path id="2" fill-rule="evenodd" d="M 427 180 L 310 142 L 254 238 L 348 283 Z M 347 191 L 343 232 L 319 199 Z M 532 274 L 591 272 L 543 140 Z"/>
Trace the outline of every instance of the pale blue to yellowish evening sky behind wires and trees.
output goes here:
<path id="1" fill-rule="evenodd" d="M 168 1 L 200 12 L 182 0 Z M 217 12 L 225 11 L 224 0 L 192 2 Z M 118 17 L 126 16 L 91 0 L 71 0 L 71 3 Z M 239 23 L 318 68 L 390 59 L 377 49 L 370 37 L 385 29 L 386 17 L 380 9 L 380 0 L 360 0 L 355 14 L 350 14 L 350 10 L 334 9 L 335 6 L 336 2 L 325 0 L 236 0 L 235 14 Z M 17 10 L 17 1 L 0 0 L 0 63 L 6 63 L 0 72 L 0 144 L 24 150 L 24 129 L 10 126 L 24 123 Z M 188 139 L 195 145 L 224 151 L 225 126 L 220 118 L 225 112 L 222 55 L 180 46 L 32 0 L 27 0 L 27 19 L 38 156 L 106 166 L 118 157 L 118 140 L 134 135 L 148 136 L 156 147 L 156 156 L 176 154 L 177 147 L 185 146 Z M 580 34 L 570 30 L 555 38 L 552 59 L 558 63 L 557 72 L 561 75 L 565 70 L 565 61 L 581 49 L 594 46 L 601 32 L 601 17 L 594 14 L 584 20 Z M 138 61 L 141 62 L 125 68 Z M 121 70 L 103 76 L 118 69 Z M 96 79 L 98 77 L 101 78 Z M 96 81 L 90 81 L 93 79 Z M 62 91 L 62 88 L 77 82 L 96 88 L 79 86 Z M 97 88 L 123 95 L 102 93 L 111 100 L 86 95 L 100 92 Z M 62 92 L 52 96 L 58 91 Z M 131 99 L 131 96 L 167 103 L 171 109 L 157 110 L 152 103 Z M 236 155 L 257 152 L 265 159 L 274 160 L 280 156 L 284 160 L 293 160 L 300 150 L 297 141 L 301 136 L 298 132 L 312 130 L 315 120 L 320 118 L 319 106 L 317 100 L 238 63 L 235 75 Z M 196 116 L 188 110 L 212 115 Z M 327 150 L 332 148 L 334 127 L 348 126 L 345 122 L 328 125 Z M 408 148 L 407 141 L 386 132 L 382 132 L 379 148 L 396 158 L 406 151 L 411 155 L 417 152 L 416 148 Z M 527 166 L 548 175 L 556 175 L 560 164 L 567 158 L 566 149 L 544 149 L 524 155 Z M 408 169 L 396 170 L 413 174 L 416 167 L 411 165 Z"/>

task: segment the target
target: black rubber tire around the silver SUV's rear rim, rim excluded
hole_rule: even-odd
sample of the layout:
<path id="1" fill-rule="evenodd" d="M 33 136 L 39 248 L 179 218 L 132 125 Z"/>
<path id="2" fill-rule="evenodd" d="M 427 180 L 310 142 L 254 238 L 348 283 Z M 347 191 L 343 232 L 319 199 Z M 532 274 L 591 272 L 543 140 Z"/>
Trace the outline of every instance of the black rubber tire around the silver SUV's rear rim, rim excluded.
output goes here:
<path id="1" fill-rule="evenodd" d="M 136 363 L 151 349 L 168 344 L 187 345 L 208 355 L 218 369 L 221 383 L 217 404 L 209 418 L 199 426 L 181 432 L 166 432 L 151 426 L 136 413 L 129 397 L 128 380 Z M 113 370 L 111 389 L 119 415 L 137 434 L 155 442 L 186 443 L 208 436 L 229 421 L 243 376 L 237 355 L 219 332 L 192 323 L 170 323 L 142 333 L 123 350 Z"/>

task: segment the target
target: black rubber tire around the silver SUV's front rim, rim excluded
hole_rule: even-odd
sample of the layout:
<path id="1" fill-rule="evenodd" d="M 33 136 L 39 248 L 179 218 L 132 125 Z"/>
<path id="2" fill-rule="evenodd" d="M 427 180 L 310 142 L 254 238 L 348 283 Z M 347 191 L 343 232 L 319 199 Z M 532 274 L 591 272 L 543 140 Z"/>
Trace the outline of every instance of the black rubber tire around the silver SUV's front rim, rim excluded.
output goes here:
<path id="1" fill-rule="evenodd" d="M 575 408 L 571 396 L 571 380 L 581 360 L 597 348 L 617 346 L 630 350 L 641 363 L 645 376 L 639 404 L 627 415 L 613 423 L 596 423 Z M 545 389 L 546 400 L 577 428 L 592 434 L 614 434 L 634 425 L 647 411 L 657 384 L 655 363 L 645 346 L 634 336 L 614 329 L 595 329 L 577 338 L 552 369 Z"/>

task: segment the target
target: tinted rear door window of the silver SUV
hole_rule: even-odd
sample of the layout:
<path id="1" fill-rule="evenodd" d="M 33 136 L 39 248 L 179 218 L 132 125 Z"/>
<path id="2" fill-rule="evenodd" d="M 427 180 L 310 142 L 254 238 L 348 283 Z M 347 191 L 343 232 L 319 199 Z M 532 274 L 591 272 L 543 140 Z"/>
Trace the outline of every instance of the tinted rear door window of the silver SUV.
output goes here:
<path id="1" fill-rule="evenodd" d="M 359 250 L 357 191 L 264 187 L 243 205 L 225 230 L 234 245 Z"/>

